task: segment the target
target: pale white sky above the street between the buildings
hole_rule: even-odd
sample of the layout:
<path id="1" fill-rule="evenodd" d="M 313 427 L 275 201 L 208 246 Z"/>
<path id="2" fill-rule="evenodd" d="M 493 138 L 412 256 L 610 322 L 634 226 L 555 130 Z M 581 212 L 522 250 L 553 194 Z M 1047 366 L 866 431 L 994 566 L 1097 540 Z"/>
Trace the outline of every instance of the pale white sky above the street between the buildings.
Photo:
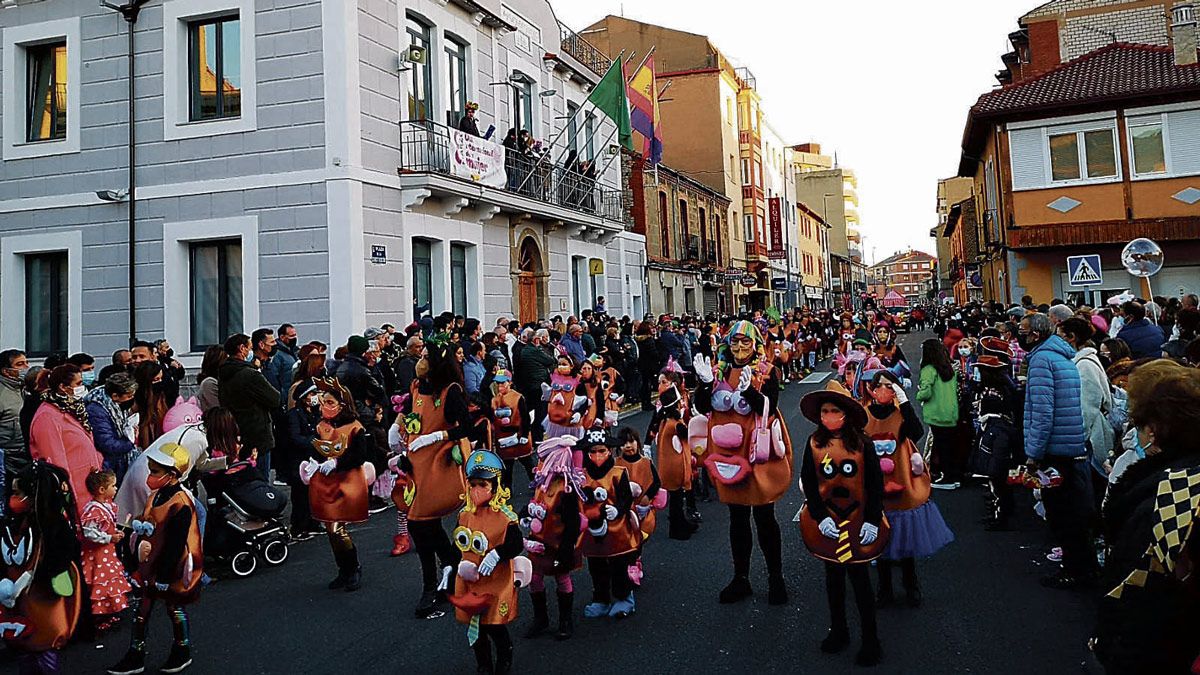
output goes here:
<path id="1" fill-rule="evenodd" d="M 707 35 L 749 67 L 772 125 L 858 174 L 868 259 L 934 252 L 937 179 L 996 85 L 1006 36 L 1039 0 L 551 0 L 580 30 L 605 14 Z"/>

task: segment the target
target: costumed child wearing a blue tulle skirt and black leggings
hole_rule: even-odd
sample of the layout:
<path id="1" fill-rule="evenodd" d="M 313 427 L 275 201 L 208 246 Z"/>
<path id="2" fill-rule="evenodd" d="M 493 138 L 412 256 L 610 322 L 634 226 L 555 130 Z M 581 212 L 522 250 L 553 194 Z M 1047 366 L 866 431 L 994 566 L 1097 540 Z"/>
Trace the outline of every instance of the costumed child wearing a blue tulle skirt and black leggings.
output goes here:
<path id="1" fill-rule="evenodd" d="M 880 558 L 878 607 L 894 602 L 892 567 L 899 561 L 908 607 L 920 604 L 917 557 L 934 555 L 954 540 L 937 504 L 929 501 L 930 477 L 917 442 L 925 426 L 908 402 L 900 378 L 880 370 L 871 380 L 871 402 L 866 406 L 866 435 L 875 443 L 883 472 L 883 513 L 892 527 L 888 545 Z"/>

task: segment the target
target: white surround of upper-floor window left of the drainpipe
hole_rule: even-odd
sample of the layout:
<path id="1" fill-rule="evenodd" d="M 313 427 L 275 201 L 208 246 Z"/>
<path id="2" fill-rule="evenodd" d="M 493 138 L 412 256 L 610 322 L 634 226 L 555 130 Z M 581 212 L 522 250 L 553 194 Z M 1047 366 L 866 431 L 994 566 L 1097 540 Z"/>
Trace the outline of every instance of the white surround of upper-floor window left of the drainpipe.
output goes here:
<path id="1" fill-rule="evenodd" d="M 79 17 L 4 29 L 4 160 L 26 160 L 79 153 L 79 92 L 83 73 Z M 28 77 L 26 46 L 65 40 L 67 43 L 67 137 L 25 141 L 29 117 L 24 92 Z M 24 336 L 22 338 L 24 340 Z"/>

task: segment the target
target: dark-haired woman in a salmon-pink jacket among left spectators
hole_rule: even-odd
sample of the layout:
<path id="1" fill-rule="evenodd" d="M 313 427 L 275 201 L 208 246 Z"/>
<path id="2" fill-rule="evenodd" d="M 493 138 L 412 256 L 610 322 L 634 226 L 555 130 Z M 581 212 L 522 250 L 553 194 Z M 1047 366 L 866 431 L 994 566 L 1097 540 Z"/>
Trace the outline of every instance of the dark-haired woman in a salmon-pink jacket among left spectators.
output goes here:
<path id="1" fill-rule="evenodd" d="M 88 503 L 88 474 L 100 470 L 103 458 L 91 441 L 91 425 L 83 396 L 86 389 L 79 366 L 66 364 L 55 368 L 48 381 L 49 390 L 42 394 L 42 405 L 34 413 L 29 428 L 29 453 L 62 468 L 71 476 L 71 491 L 76 507 L 83 515 Z"/>

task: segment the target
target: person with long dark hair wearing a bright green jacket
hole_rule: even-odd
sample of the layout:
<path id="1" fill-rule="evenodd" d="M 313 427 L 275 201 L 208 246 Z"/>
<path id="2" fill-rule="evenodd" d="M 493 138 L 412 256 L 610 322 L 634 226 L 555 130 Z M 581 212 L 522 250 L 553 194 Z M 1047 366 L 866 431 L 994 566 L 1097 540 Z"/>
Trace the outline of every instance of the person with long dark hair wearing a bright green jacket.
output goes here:
<path id="1" fill-rule="evenodd" d="M 934 488 L 954 490 L 966 470 L 967 448 L 959 434 L 959 384 L 950 354 L 936 338 L 920 345 L 920 383 L 917 400 L 934 436 L 929 465 Z"/>

